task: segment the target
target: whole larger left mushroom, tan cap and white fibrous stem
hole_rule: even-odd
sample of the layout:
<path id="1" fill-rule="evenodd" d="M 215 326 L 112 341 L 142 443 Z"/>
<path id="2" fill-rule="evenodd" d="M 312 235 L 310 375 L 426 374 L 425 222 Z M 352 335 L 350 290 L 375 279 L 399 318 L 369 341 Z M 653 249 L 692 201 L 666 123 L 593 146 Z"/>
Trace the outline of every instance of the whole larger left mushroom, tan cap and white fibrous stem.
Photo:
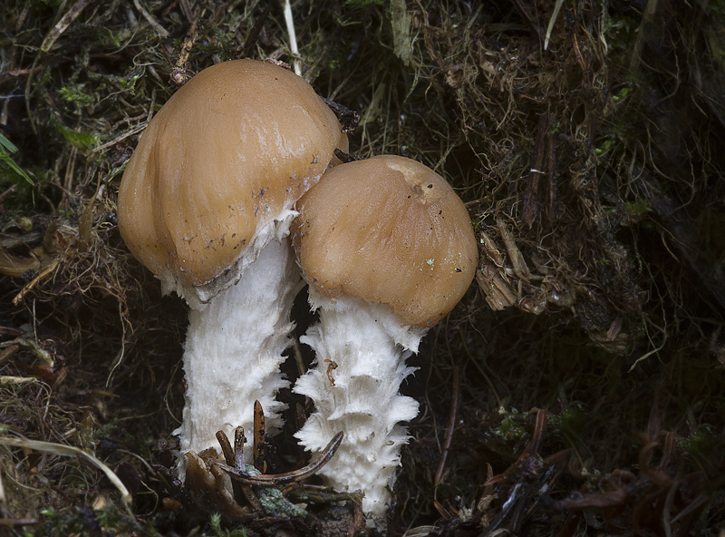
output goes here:
<path id="1" fill-rule="evenodd" d="M 121 180 L 118 219 L 163 291 L 189 303 L 182 453 L 251 431 L 258 399 L 272 429 L 302 285 L 288 243 L 295 201 L 347 137 L 304 79 L 273 63 L 218 63 L 149 123 Z M 183 470 L 181 470 L 183 474 Z"/>

